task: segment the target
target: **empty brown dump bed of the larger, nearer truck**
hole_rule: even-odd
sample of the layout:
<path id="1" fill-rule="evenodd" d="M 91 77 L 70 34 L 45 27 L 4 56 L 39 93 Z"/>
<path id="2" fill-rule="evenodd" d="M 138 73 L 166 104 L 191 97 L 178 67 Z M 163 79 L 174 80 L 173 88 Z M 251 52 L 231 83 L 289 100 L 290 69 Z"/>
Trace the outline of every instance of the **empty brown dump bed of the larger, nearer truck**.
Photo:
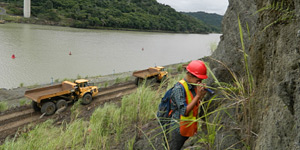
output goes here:
<path id="1" fill-rule="evenodd" d="M 64 81 L 61 84 L 28 90 L 25 96 L 40 103 L 42 99 L 69 94 L 71 90 L 75 90 L 75 86 L 75 83 Z"/>

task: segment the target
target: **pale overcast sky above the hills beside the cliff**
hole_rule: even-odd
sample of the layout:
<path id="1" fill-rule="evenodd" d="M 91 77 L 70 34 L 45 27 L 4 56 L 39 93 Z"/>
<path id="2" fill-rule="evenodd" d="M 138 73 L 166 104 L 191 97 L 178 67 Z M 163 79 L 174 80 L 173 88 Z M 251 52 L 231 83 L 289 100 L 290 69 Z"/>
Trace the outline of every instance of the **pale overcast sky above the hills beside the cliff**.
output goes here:
<path id="1" fill-rule="evenodd" d="M 228 0 L 157 0 L 157 2 L 171 6 L 177 11 L 217 13 L 224 15 Z"/>

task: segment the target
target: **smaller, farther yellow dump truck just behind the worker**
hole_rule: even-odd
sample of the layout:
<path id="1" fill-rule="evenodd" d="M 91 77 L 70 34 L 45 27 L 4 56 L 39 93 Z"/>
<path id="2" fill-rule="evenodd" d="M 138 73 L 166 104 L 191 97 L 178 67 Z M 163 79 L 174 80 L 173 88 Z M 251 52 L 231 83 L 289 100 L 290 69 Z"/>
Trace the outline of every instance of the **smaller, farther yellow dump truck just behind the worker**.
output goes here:
<path id="1" fill-rule="evenodd" d="M 136 77 L 136 85 L 139 85 L 144 79 L 155 79 L 155 81 L 161 82 L 168 76 L 168 72 L 164 71 L 164 69 L 161 66 L 150 67 L 145 70 L 135 71 L 132 75 Z"/>

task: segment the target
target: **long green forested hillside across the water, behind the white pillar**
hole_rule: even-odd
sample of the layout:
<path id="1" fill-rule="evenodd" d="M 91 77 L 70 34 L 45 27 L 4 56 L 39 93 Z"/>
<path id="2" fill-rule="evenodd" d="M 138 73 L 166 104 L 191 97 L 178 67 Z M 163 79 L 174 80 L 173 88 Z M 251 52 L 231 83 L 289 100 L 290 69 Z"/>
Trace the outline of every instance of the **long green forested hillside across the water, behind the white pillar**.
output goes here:
<path id="1" fill-rule="evenodd" d="M 0 0 L 8 14 L 22 15 L 23 0 Z M 127 28 L 210 33 L 212 27 L 156 0 L 31 0 L 31 15 L 79 28 Z M 2 6 L 3 7 L 3 6 Z"/>

